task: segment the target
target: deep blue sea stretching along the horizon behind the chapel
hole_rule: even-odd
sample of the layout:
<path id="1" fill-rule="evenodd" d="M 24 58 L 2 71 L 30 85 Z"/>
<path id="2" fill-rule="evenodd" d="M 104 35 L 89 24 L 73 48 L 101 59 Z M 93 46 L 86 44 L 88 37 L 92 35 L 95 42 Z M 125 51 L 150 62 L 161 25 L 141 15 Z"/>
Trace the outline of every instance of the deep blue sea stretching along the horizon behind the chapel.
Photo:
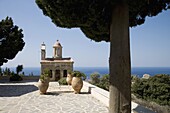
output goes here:
<path id="1" fill-rule="evenodd" d="M 15 68 L 10 68 L 11 71 L 15 72 Z M 74 70 L 81 71 L 86 74 L 87 79 L 90 78 L 92 73 L 99 73 L 101 76 L 109 74 L 108 67 L 74 67 Z M 40 75 L 40 67 L 24 67 L 23 72 L 26 76 Z M 144 74 L 154 76 L 156 74 L 170 74 L 170 67 L 132 67 L 131 75 L 142 77 Z"/>

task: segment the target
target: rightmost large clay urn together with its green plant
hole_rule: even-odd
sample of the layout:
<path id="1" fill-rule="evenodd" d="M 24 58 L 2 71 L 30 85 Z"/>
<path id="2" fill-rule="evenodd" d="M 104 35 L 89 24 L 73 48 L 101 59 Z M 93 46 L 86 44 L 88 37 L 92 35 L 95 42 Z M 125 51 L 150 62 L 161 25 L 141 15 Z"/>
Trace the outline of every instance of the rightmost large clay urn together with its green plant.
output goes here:
<path id="1" fill-rule="evenodd" d="M 85 79 L 86 75 L 80 71 L 73 71 L 72 76 L 73 76 L 73 78 L 72 78 L 71 85 L 72 85 L 72 88 L 74 89 L 74 93 L 75 94 L 80 93 L 80 91 L 83 87 L 82 79 Z"/>

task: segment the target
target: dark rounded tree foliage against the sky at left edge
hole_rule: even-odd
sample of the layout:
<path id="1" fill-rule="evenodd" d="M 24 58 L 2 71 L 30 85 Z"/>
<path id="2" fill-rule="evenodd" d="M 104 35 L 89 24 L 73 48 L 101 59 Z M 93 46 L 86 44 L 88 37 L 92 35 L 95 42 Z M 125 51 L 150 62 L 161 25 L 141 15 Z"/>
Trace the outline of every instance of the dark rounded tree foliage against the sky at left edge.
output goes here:
<path id="1" fill-rule="evenodd" d="M 22 29 L 13 24 L 12 18 L 0 21 L 0 66 L 13 59 L 24 45 Z"/>

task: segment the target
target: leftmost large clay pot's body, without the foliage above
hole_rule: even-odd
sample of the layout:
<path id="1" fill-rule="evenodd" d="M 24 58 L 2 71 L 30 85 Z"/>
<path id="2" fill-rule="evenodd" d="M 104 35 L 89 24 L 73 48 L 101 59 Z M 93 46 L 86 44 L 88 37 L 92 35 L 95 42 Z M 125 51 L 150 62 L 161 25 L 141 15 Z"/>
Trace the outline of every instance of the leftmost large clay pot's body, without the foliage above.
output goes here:
<path id="1" fill-rule="evenodd" d="M 49 86 L 49 78 L 47 78 L 45 80 L 40 80 L 39 79 L 39 81 L 38 81 L 38 89 L 40 91 L 40 94 L 46 94 L 48 86 Z"/>

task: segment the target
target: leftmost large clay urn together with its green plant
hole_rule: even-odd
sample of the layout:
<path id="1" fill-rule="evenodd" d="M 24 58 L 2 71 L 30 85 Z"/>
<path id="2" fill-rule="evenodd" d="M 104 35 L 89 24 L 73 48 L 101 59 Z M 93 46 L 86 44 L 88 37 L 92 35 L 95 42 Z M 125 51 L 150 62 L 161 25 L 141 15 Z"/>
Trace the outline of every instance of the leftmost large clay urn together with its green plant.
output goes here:
<path id="1" fill-rule="evenodd" d="M 40 90 L 40 94 L 46 94 L 50 81 L 50 71 L 45 69 L 44 72 L 40 75 L 40 79 L 38 81 L 38 89 Z"/>

